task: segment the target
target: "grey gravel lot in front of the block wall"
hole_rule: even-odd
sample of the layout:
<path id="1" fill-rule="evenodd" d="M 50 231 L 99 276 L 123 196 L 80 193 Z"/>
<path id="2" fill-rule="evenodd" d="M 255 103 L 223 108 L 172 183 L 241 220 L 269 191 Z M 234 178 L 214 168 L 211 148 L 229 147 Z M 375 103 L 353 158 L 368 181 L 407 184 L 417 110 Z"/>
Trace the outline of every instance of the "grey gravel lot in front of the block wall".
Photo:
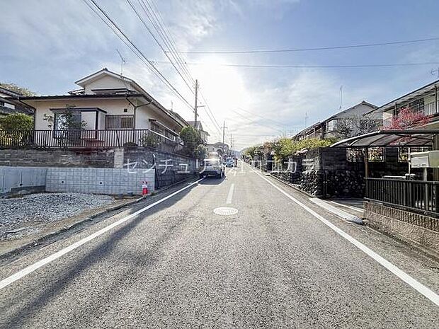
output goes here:
<path id="1" fill-rule="evenodd" d="M 0 240 L 33 233 L 36 225 L 76 216 L 114 201 L 106 195 L 38 193 L 0 200 Z"/>

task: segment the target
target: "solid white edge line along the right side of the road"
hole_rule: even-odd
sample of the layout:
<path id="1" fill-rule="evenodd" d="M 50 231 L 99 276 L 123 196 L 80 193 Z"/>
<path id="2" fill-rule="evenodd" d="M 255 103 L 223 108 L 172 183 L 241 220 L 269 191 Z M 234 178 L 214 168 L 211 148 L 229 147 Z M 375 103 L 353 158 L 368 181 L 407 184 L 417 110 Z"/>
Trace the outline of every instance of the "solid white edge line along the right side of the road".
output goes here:
<path id="1" fill-rule="evenodd" d="M 307 212 L 309 212 L 309 214 L 312 214 L 314 217 L 319 219 L 319 221 L 321 221 L 323 224 L 328 226 L 330 229 L 332 229 L 333 231 L 338 233 L 343 238 L 346 238 L 346 240 L 348 240 L 355 247 L 357 247 L 358 249 L 363 251 L 363 253 L 365 253 L 366 255 L 370 256 L 374 260 L 376 260 L 378 263 L 380 263 L 380 265 L 382 265 L 383 267 L 387 268 L 387 270 L 389 270 L 394 275 L 399 277 L 399 279 L 401 279 L 402 281 L 406 282 L 406 284 L 409 284 L 409 286 L 414 288 L 417 292 L 419 292 L 423 296 L 426 296 L 426 298 L 430 299 L 434 304 L 439 306 L 439 296 L 438 296 L 438 294 L 435 294 L 435 292 L 433 292 L 431 289 L 429 289 L 428 287 L 426 287 L 423 284 L 421 284 L 421 282 L 416 281 L 416 279 L 414 279 L 413 277 L 408 275 L 406 272 L 404 272 L 403 270 L 400 270 L 399 267 L 393 265 L 388 260 L 382 258 L 380 255 L 375 253 L 375 251 L 373 251 L 370 248 L 366 247 L 365 245 L 363 245 L 363 243 L 360 243 L 360 241 L 358 241 L 357 239 L 353 238 L 352 236 L 350 236 L 345 231 L 343 231 L 341 229 L 338 229 L 337 226 L 332 224 L 327 219 L 324 219 L 324 217 L 321 217 L 319 214 L 317 214 L 317 212 L 314 212 L 314 210 L 312 210 L 311 208 L 307 207 L 307 205 L 303 204 L 299 200 L 295 199 L 295 197 L 292 197 L 291 195 L 289 195 L 287 192 L 282 190 L 280 187 L 276 186 L 274 183 L 270 182 L 270 180 L 268 180 L 267 178 L 263 177 L 263 175 L 261 175 L 260 173 L 255 171 L 253 168 L 251 168 L 251 170 L 254 171 L 263 180 L 266 180 L 267 183 L 269 183 L 270 185 L 275 187 L 276 190 L 278 190 L 279 192 L 283 193 L 283 195 L 285 195 L 290 200 L 292 200 L 293 202 L 298 204 L 300 207 L 305 209 Z"/>

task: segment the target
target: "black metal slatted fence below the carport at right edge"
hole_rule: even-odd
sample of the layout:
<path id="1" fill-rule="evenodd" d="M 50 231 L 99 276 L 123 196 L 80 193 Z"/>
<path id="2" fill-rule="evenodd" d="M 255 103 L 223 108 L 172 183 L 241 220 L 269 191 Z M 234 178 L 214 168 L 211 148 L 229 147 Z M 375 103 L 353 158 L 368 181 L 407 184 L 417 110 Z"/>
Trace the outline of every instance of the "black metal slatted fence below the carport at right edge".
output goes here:
<path id="1" fill-rule="evenodd" d="M 439 182 L 365 178 L 365 199 L 439 217 Z"/>

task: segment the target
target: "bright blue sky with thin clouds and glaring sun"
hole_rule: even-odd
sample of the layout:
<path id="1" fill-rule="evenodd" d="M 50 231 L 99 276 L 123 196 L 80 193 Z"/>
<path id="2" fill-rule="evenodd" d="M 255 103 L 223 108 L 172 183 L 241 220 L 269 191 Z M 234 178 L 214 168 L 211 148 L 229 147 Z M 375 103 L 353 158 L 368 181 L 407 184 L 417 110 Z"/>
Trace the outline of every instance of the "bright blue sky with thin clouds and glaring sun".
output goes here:
<path id="1" fill-rule="evenodd" d="M 193 93 L 169 64 L 127 0 L 95 0 L 176 90 Z M 139 0 L 131 0 L 140 7 Z M 146 1 L 146 0 L 145 0 Z M 439 37 L 439 1 L 147 0 L 156 5 L 176 50 L 200 84 L 199 120 L 209 142 L 232 137 L 235 149 L 292 136 L 367 100 L 382 105 L 430 83 L 439 64 L 316 68 L 321 65 L 439 63 L 439 40 L 338 50 L 282 53 L 193 53 L 359 45 Z M 0 81 L 41 95 L 64 94 L 103 67 L 143 86 L 186 120 L 193 110 L 82 0 L 0 0 Z M 142 11 L 139 10 L 142 14 Z M 143 13 L 144 15 L 144 13 Z M 147 21 L 146 16 L 143 16 Z M 149 25 L 149 28 L 153 28 Z M 189 53 L 188 53 L 189 52 Z M 230 67 L 300 65 L 301 68 Z M 343 98 L 340 99 L 342 87 Z M 212 115 L 208 115 L 208 111 Z"/>

